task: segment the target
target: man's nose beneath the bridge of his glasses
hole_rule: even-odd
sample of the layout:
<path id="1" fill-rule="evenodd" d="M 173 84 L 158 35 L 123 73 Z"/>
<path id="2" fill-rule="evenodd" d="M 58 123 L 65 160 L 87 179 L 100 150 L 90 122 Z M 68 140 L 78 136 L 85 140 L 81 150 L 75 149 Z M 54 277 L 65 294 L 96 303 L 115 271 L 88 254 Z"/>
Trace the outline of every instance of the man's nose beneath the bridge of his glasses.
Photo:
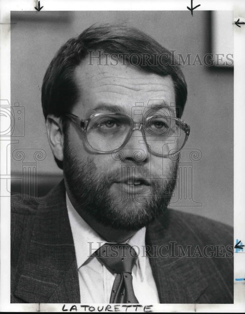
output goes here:
<path id="1" fill-rule="evenodd" d="M 146 163 L 150 160 L 150 147 L 146 143 L 141 129 L 133 129 L 127 143 L 117 149 L 115 156 L 122 162 L 136 164 Z"/>

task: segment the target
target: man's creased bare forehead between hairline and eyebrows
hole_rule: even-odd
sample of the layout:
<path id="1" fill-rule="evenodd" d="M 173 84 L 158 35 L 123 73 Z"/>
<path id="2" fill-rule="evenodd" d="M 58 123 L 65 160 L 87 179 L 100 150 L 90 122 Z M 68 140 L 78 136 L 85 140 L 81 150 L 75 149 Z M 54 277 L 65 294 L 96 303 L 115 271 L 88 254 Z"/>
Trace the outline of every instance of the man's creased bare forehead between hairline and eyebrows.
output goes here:
<path id="1" fill-rule="evenodd" d="M 138 105 L 173 108 L 175 92 L 170 76 L 162 77 L 129 64 L 122 65 L 120 59 L 117 65 L 101 63 L 88 65 L 87 58 L 75 69 L 79 99 L 73 108 L 74 114 L 82 118 L 107 111 L 130 114 L 132 107 Z"/>

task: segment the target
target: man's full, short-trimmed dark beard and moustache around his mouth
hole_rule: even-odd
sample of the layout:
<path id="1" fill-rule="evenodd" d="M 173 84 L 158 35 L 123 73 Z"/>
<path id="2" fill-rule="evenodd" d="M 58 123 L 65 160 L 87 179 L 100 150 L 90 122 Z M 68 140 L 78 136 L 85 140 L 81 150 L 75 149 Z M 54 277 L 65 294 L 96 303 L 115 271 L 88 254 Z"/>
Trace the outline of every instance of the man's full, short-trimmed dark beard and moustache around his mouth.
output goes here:
<path id="1" fill-rule="evenodd" d="M 131 169 L 135 166 L 133 164 Z M 178 161 L 175 161 L 170 170 L 172 178 L 151 179 L 150 196 L 126 193 L 126 197 L 118 195 L 115 199 L 110 187 L 114 182 L 121 181 L 122 170 L 99 174 L 92 158 L 78 160 L 69 146 L 69 139 L 65 137 L 63 171 L 76 202 L 76 210 L 115 230 L 137 231 L 158 219 L 169 205 L 177 169 Z M 139 171 L 142 176 L 152 174 L 144 166 L 140 166 Z"/>

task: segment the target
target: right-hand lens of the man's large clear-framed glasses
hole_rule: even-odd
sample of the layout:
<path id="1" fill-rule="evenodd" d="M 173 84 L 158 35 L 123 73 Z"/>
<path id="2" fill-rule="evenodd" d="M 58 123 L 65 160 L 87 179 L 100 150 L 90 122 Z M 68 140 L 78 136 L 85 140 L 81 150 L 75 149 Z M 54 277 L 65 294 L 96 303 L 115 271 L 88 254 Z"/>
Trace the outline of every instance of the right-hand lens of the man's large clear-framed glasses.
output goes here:
<path id="1" fill-rule="evenodd" d="M 185 125 L 176 118 L 156 114 L 145 119 L 144 133 L 151 151 L 160 155 L 173 154 L 185 141 Z"/>

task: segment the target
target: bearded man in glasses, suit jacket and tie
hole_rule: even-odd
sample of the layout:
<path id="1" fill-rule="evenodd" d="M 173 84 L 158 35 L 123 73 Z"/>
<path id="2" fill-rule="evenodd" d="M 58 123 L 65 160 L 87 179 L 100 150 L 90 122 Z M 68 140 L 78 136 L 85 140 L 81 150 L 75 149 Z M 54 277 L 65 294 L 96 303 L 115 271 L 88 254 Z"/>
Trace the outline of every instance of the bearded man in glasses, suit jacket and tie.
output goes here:
<path id="1" fill-rule="evenodd" d="M 171 53 L 138 30 L 60 48 L 42 106 L 64 181 L 47 207 L 12 209 L 12 303 L 233 302 L 229 227 L 167 209 L 186 98 Z"/>

